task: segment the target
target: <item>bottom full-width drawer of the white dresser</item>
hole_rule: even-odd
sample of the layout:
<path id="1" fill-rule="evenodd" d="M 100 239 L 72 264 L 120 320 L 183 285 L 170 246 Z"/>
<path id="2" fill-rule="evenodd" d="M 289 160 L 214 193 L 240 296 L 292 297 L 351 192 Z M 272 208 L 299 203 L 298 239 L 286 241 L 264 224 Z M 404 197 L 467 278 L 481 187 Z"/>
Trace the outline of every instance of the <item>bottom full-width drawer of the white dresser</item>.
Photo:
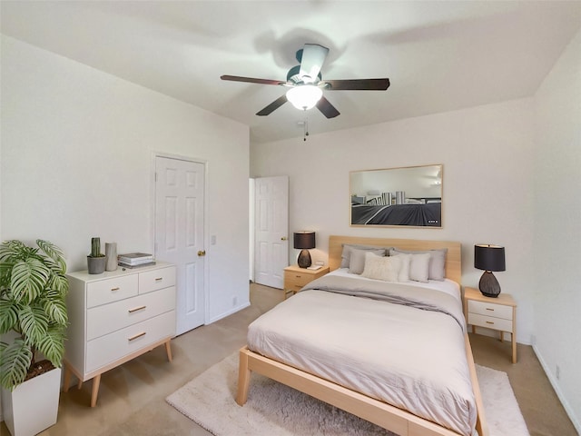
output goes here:
<path id="1" fill-rule="evenodd" d="M 139 352 L 153 342 L 172 337 L 174 332 L 175 311 L 172 311 L 89 341 L 84 372 L 95 371 L 133 352 Z"/>

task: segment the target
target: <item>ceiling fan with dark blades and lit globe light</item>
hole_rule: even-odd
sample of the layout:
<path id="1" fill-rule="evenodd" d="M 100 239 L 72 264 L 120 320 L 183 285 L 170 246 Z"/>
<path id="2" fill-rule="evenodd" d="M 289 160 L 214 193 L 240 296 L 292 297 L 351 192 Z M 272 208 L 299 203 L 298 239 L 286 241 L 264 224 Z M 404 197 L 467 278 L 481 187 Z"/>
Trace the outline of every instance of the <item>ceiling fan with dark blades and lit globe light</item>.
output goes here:
<path id="1" fill-rule="evenodd" d="M 317 106 L 327 118 L 334 118 L 340 112 L 323 96 L 324 91 L 385 91 L 389 87 L 389 79 L 350 79 L 323 80 L 320 68 L 329 54 L 329 48 L 318 44 L 305 44 L 297 54 L 299 65 L 293 66 L 287 74 L 286 82 L 281 80 L 256 79 L 238 75 L 222 75 L 222 80 L 233 82 L 248 82 L 251 84 L 278 84 L 290 89 L 267 105 L 257 115 L 271 114 L 282 104 L 291 102 L 297 109 L 308 110 Z"/>

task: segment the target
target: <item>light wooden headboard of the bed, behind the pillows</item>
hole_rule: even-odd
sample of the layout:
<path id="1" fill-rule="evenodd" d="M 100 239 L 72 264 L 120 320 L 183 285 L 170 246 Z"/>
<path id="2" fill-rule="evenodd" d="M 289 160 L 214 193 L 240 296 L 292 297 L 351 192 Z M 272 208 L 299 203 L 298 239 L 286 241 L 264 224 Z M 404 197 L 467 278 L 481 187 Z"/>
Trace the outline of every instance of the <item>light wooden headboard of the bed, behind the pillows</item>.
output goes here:
<path id="1" fill-rule="evenodd" d="M 361 238 L 359 236 L 329 237 L 329 267 L 330 271 L 340 268 L 341 253 L 344 243 L 361 245 L 378 245 L 379 247 L 396 247 L 401 250 L 434 250 L 448 248 L 446 257 L 446 277 L 458 284 L 462 282 L 461 244 L 447 241 L 421 241 L 419 239 L 387 239 L 387 238 Z"/>

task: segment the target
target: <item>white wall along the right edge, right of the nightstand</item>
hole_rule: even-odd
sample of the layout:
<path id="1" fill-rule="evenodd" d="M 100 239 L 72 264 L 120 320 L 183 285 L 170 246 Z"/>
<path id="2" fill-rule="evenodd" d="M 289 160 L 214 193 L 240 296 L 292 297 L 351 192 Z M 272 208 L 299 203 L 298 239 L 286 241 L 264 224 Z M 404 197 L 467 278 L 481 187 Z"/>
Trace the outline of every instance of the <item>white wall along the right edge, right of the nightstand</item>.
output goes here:
<path id="1" fill-rule="evenodd" d="M 581 32 L 535 106 L 535 350 L 581 433 Z"/>

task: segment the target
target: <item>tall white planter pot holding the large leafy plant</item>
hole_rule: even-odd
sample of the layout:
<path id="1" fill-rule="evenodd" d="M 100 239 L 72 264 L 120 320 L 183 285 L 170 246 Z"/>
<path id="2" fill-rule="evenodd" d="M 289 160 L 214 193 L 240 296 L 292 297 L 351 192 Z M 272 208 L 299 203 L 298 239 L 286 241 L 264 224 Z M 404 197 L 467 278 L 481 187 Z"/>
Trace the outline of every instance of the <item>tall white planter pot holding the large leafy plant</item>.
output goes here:
<path id="1" fill-rule="evenodd" d="M 61 391 L 61 369 L 56 368 L 2 390 L 2 411 L 13 436 L 34 436 L 56 423 Z"/>

